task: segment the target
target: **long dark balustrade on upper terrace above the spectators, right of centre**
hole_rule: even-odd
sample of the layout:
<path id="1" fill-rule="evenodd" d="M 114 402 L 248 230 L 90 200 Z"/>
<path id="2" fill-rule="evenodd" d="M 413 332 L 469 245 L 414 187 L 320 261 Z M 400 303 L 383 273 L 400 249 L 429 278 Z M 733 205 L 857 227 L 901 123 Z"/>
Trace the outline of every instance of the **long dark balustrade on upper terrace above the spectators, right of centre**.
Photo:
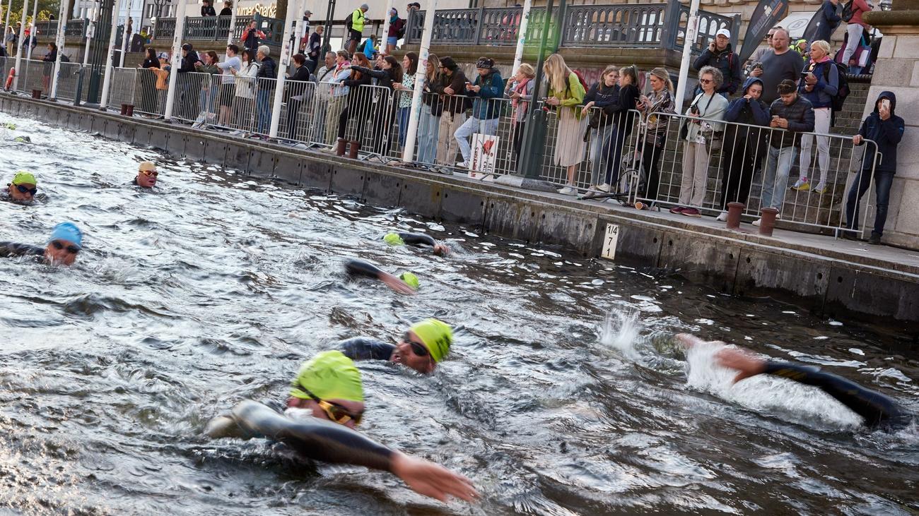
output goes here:
<path id="1" fill-rule="evenodd" d="M 437 10 L 431 42 L 434 44 L 514 46 L 519 34 L 521 7 Z M 539 40 L 546 16 L 544 7 L 530 10 L 528 41 Z M 566 6 L 561 19 L 562 47 L 683 48 L 683 28 L 688 7 L 677 0 L 659 4 Z M 550 36 L 560 34 L 558 11 L 552 14 Z M 425 11 L 412 11 L 407 21 L 406 44 L 418 44 L 425 24 Z M 720 28 L 732 33 L 736 46 L 740 17 L 699 11 L 698 38 L 693 50 L 700 52 Z"/>

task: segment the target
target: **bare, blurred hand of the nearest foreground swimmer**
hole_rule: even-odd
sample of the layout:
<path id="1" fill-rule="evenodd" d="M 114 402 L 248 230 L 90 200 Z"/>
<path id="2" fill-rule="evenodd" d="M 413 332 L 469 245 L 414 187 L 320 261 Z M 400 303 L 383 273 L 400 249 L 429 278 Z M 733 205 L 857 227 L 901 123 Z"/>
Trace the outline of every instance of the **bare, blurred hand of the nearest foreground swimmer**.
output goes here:
<path id="1" fill-rule="evenodd" d="M 472 487 L 472 481 L 424 459 L 410 457 L 402 452 L 393 452 L 390 470 L 403 479 L 414 492 L 446 502 L 448 497 L 472 501 L 479 493 Z"/>

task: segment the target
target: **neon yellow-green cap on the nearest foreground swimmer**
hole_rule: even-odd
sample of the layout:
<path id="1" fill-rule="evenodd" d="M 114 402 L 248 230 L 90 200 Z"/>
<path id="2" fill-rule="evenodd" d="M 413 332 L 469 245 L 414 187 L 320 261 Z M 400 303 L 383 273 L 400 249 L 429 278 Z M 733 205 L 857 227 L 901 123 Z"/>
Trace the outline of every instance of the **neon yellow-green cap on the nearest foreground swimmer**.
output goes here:
<path id="1" fill-rule="evenodd" d="M 290 396 L 312 399 L 306 390 L 320 399 L 363 401 L 364 387 L 354 362 L 340 351 L 323 351 L 301 365 L 290 382 Z"/>

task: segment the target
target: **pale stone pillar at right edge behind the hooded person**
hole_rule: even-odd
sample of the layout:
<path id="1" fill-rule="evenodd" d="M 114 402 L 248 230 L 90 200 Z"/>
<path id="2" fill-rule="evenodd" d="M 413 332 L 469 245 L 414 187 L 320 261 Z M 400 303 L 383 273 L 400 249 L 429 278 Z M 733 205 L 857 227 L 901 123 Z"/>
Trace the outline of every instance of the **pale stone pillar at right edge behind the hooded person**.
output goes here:
<path id="1" fill-rule="evenodd" d="M 897 174 L 891 187 L 883 241 L 919 249 L 919 0 L 896 0 L 893 10 L 868 13 L 865 22 L 878 28 L 884 39 L 862 118 L 874 110 L 880 92 L 891 91 L 897 95 L 896 115 L 906 123 L 897 148 Z M 874 185 L 870 192 L 873 191 Z M 863 208 L 867 198 L 868 195 L 862 199 Z M 874 214 L 872 194 L 866 234 Z"/>

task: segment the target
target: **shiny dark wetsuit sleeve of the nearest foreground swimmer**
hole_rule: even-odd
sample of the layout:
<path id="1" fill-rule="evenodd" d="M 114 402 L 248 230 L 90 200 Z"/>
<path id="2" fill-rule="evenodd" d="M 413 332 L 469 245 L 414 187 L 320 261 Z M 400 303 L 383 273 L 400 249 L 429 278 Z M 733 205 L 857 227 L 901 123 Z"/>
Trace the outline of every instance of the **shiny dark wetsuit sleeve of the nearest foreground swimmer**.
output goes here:
<path id="1" fill-rule="evenodd" d="M 332 421 L 292 420 L 255 401 L 233 407 L 233 420 L 244 432 L 286 443 L 313 460 L 391 470 L 391 449 Z"/>

